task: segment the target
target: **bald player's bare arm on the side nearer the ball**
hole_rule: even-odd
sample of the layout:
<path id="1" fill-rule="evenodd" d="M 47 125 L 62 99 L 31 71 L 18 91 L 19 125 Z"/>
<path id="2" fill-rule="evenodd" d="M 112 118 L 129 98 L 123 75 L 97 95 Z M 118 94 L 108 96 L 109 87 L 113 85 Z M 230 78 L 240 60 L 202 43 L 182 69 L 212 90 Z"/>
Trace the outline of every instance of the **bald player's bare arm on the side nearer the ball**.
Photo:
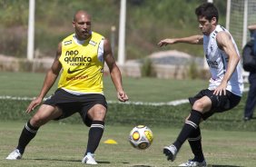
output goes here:
<path id="1" fill-rule="evenodd" d="M 117 98 L 121 102 L 128 101 L 127 94 L 123 91 L 122 76 L 118 66 L 113 58 L 111 44 L 107 39 L 104 40 L 104 60 L 108 65 L 111 79 L 117 91 Z"/>

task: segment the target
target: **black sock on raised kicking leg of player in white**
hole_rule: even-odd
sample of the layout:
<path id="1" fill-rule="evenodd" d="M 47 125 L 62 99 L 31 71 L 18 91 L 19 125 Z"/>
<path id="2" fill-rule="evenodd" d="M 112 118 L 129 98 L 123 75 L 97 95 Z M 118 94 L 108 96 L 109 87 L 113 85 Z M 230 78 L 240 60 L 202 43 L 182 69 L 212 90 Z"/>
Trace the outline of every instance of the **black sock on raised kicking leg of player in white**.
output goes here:
<path id="1" fill-rule="evenodd" d="M 187 138 L 190 136 L 192 131 L 198 128 L 201 118 L 202 118 L 202 113 L 192 110 L 191 116 L 185 122 L 181 133 L 179 134 L 176 141 L 173 142 L 173 145 L 175 145 L 177 151 L 180 150 L 180 148 L 182 147 L 182 144 L 187 140 Z"/>

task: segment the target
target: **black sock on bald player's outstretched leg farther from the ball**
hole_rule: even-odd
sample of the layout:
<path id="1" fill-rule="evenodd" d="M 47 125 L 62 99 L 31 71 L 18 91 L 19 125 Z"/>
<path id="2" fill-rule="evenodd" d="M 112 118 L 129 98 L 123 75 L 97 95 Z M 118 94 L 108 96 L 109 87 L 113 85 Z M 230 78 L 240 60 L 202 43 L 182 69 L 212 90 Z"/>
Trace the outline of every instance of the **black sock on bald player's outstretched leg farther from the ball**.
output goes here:
<path id="1" fill-rule="evenodd" d="M 37 127 L 33 127 L 29 122 L 30 121 L 25 123 L 25 127 L 20 135 L 18 146 L 16 148 L 21 154 L 25 152 L 25 146 L 34 138 L 37 130 L 39 129 Z"/>

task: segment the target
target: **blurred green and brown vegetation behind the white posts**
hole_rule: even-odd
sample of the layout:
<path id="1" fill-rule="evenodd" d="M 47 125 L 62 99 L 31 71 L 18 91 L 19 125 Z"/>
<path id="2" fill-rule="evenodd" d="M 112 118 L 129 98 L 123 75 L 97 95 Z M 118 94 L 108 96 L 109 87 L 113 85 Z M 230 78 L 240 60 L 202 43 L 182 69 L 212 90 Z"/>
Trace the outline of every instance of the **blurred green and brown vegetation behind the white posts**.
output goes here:
<path id="1" fill-rule="evenodd" d="M 206 0 L 127 0 L 126 58 L 143 58 L 160 51 L 159 40 L 165 37 L 198 34 L 194 9 Z M 226 1 L 215 0 L 220 24 L 225 24 Z M 28 0 L 0 0 L 0 54 L 25 58 L 27 43 Z M 74 12 L 84 9 L 93 15 L 93 31 L 111 39 L 117 55 L 120 0 L 36 0 L 34 49 L 36 56 L 54 56 L 57 44 L 72 34 Z M 115 26 L 113 35 L 111 27 Z M 162 48 L 176 49 L 202 56 L 202 46 L 183 44 Z"/>

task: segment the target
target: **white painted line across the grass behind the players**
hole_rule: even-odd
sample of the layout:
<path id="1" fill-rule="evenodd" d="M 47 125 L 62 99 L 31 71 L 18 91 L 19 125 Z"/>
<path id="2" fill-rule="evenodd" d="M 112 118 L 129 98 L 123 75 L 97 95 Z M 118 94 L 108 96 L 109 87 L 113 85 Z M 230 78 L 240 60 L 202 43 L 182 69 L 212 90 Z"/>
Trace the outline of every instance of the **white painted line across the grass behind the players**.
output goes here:
<path id="1" fill-rule="evenodd" d="M 249 88 L 244 88 L 243 92 L 248 92 Z M 19 100 L 19 101 L 32 101 L 35 97 L 14 97 L 14 96 L 9 96 L 9 95 L 2 95 L 0 96 L 0 99 L 8 99 L 8 100 Z M 46 100 L 46 98 L 44 98 Z M 121 103 L 118 101 L 107 101 L 107 103 Z M 151 102 L 125 102 L 123 104 L 135 104 L 135 105 L 153 105 L 153 106 L 160 106 L 160 105 L 180 105 L 182 103 L 189 103 L 188 99 L 180 99 L 180 100 L 175 100 L 171 102 L 160 102 L 160 103 L 151 103 Z"/>

